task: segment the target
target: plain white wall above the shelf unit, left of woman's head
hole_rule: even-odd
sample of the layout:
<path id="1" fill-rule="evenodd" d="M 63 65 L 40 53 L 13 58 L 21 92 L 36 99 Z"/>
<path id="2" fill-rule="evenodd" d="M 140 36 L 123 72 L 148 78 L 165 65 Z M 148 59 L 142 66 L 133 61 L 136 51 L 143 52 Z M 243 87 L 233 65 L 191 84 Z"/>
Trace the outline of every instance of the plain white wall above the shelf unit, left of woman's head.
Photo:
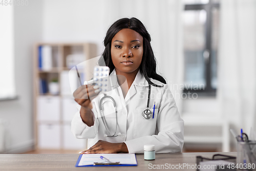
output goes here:
<path id="1" fill-rule="evenodd" d="M 101 55 L 104 50 L 103 39 L 109 28 L 103 20 L 105 3 L 103 0 L 45 0 L 43 40 L 93 42 L 97 44 L 97 55 Z"/>

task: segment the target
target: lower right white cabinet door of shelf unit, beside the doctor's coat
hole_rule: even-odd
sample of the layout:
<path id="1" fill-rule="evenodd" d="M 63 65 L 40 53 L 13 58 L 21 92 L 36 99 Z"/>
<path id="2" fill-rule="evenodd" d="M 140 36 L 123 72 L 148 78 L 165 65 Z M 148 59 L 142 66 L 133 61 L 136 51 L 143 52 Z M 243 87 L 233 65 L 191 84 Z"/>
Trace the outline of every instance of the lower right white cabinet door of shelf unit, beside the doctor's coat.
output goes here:
<path id="1" fill-rule="evenodd" d="M 87 139 L 77 139 L 71 132 L 71 124 L 62 125 L 62 129 L 64 149 L 77 149 L 80 151 L 87 149 Z"/>

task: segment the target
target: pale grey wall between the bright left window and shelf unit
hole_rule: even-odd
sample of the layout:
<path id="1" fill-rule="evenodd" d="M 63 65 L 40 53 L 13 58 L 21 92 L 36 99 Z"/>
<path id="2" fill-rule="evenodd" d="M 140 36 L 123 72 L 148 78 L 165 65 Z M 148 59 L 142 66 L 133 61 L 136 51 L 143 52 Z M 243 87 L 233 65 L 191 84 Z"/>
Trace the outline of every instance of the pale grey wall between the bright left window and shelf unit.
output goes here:
<path id="1" fill-rule="evenodd" d="M 6 153 L 31 149 L 33 136 L 32 57 L 34 42 L 41 40 L 42 1 L 14 7 L 14 61 L 17 100 L 1 101 L 0 118 L 7 121 Z"/>

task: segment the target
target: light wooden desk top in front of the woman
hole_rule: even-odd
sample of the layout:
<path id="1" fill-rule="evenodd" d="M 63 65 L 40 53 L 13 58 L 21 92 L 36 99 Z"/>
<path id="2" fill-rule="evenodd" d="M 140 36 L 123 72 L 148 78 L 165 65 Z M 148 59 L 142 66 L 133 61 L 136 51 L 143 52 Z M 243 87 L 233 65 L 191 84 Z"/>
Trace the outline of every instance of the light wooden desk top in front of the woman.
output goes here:
<path id="1" fill-rule="evenodd" d="M 1 154 L 0 170 L 150 170 L 149 164 L 165 165 L 165 163 L 179 165 L 187 163 L 196 164 L 196 156 L 211 158 L 217 153 L 166 153 L 157 154 L 156 160 L 144 160 L 143 154 L 136 155 L 138 166 L 118 166 L 118 167 L 75 167 L 79 154 Z M 236 156 L 236 152 L 218 153 L 230 156 Z M 167 169 L 166 169 L 167 170 Z M 182 170 L 182 169 L 168 169 Z M 196 169 L 183 169 L 196 170 Z"/>

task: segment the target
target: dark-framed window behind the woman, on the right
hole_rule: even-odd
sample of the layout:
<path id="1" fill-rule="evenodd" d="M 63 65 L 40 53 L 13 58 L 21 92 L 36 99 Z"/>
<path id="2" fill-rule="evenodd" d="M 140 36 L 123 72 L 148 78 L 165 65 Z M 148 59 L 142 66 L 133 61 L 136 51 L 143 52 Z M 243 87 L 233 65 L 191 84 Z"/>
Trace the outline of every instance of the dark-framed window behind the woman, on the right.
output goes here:
<path id="1" fill-rule="evenodd" d="M 217 0 L 184 2 L 184 92 L 215 95 L 220 5 Z"/>

